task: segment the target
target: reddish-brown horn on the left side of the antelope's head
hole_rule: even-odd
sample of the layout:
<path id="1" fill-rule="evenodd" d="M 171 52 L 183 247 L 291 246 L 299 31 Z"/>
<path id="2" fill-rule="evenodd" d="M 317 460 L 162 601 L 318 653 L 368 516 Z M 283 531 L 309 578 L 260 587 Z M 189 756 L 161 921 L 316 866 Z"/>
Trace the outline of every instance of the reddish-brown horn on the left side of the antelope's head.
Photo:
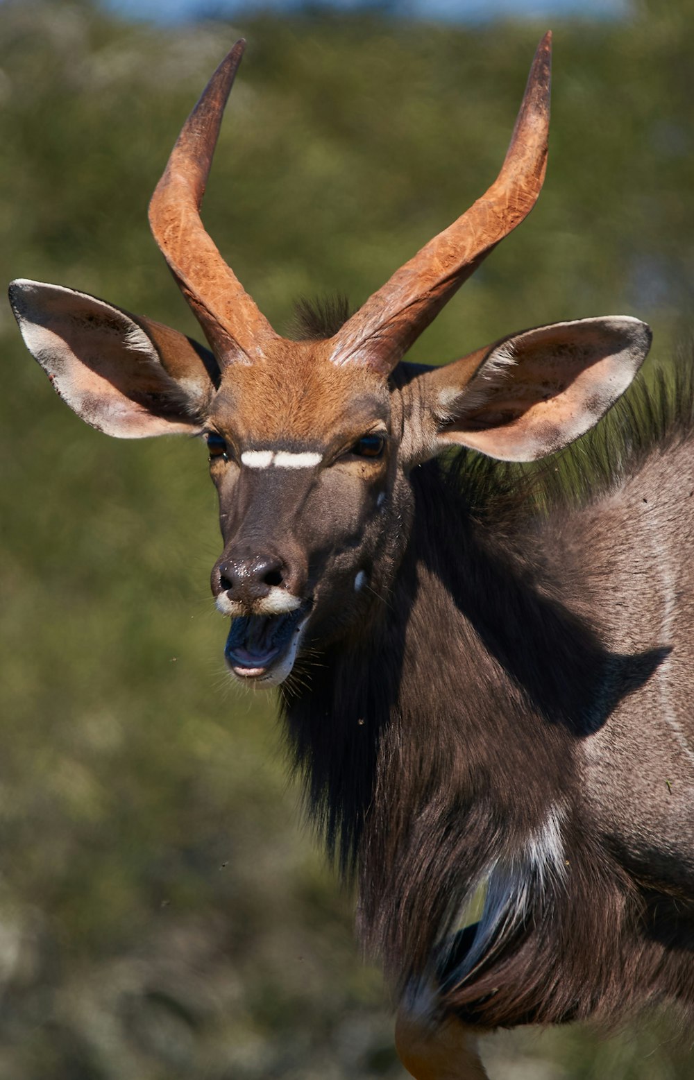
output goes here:
<path id="1" fill-rule="evenodd" d="M 221 365 L 251 363 L 277 340 L 267 319 L 226 265 L 200 219 L 224 107 L 245 41 L 237 41 L 205 86 L 149 204 L 149 225 Z"/>

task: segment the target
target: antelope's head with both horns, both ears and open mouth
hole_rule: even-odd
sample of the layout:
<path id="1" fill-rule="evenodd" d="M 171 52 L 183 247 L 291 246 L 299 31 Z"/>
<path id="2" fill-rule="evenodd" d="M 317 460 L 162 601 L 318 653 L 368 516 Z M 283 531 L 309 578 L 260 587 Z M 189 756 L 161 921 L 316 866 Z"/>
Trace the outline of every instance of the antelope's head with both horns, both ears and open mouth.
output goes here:
<path id="1" fill-rule="evenodd" d="M 25 342 L 88 423 L 119 437 L 206 438 L 224 551 L 212 573 L 231 617 L 226 657 L 281 683 L 309 643 L 356 633 L 388 589 L 412 513 L 409 473 L 451 446 L 528 461 L 588 430 L 650 345 L 626 316 L 542 326 L 445 367 L 410 346 L 532 210 L 547 156 L 550 36 L 540 42 L 497 179 L 320 340 L 280 337 L 200 219 L 238 42 L 187 120 L 150 203 L 157 243 L 208 347 L 58 285 L 17 280 Z"/>

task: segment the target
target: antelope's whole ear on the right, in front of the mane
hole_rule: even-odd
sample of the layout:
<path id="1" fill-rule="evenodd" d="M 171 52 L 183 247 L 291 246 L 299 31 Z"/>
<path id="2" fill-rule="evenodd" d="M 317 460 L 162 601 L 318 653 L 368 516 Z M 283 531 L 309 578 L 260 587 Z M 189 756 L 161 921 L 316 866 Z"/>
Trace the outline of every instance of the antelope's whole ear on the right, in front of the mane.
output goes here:
<path id="1" fill-rule="evenodd" d="M 415 381 L 425 401 L 426 460 L 452 445 L 533 461 L 573 442 L 631 382 L 651 347 L 628 315 L 524 330 Z"/>

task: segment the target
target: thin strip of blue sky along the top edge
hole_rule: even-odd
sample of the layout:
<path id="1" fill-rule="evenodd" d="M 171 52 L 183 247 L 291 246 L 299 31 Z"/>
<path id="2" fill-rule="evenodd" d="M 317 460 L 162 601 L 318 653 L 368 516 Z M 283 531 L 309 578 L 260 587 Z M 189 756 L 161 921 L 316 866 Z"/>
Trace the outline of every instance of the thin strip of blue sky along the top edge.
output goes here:
<path id="1" fill-rule="evenodd" d="M 303 0 L 102 0 L 104 6 L 128 17 L 152 19 L 158 23 L 181 23 L 199 18 L 215 11 L 232 16 L 239 12 L 290 12 L 305 6 Z M 382 4 L 393 14 L 444 19 L 446 22 L 479 22 L 498 15 L 535 18 L 546 15 L 580 15 L 596 18 L 624 14 L 628 0 L 390 0 Z M 322 0 L 311 6 L 335 11 L 356 11 L 377 6 L 368 0 Z"/>

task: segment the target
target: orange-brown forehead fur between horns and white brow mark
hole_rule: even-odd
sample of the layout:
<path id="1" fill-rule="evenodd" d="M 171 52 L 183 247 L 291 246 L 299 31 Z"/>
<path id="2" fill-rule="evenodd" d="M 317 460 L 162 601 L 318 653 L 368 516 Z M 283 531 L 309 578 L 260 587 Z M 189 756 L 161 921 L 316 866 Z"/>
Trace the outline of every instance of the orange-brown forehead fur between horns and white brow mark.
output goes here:
<path id="1" fill-rule="evenodd" d="M 388 418 L 383 378 L 357 365 L 335 366 L 326 342 L 283 341 L 278 355 L 224 372 L 210 419 L 243 443 L 324 444 L 353 424 Z"/>

